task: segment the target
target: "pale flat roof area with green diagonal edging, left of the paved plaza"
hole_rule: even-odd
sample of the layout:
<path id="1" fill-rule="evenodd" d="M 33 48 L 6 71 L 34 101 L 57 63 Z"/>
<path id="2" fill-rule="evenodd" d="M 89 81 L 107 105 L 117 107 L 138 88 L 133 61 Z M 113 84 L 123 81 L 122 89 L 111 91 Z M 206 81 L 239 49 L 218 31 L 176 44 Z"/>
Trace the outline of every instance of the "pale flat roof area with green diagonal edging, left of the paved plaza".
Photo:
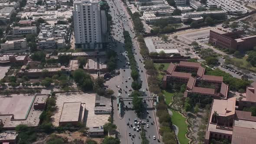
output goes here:
<path id="1" fill-rule="evenodd" d="M 0 97 L 0 119 L 3 120 L 3 129 L 14 129 L 19 124 L 26 124 L 35 127 L 39 124 L 39 116 L 42 110 L 34 109 L 33 105 L 37 100 L 45 102 L 47 95 L 2 95 Z"/>

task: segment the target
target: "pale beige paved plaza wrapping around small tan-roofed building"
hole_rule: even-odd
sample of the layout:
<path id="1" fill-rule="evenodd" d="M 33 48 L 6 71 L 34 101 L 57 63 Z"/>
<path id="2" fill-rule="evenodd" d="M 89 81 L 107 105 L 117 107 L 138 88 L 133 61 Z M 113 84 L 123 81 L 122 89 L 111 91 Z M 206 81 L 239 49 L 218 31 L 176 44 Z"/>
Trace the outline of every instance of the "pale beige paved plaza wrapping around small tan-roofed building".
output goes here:
<path id="1" fill-rule="evenodd" d="M 53 115 L 53 125 L 59 126 L 59 119 L 61 116 L 62 106 L 64 102 L 81 102 L 85 103 L 84 123 L 86 127 L 98 127 L 108 122 L 110 115 L 95 115 L 95 93 L 83 92 L 67 92 L 56 94 L 57 110 Z"/>

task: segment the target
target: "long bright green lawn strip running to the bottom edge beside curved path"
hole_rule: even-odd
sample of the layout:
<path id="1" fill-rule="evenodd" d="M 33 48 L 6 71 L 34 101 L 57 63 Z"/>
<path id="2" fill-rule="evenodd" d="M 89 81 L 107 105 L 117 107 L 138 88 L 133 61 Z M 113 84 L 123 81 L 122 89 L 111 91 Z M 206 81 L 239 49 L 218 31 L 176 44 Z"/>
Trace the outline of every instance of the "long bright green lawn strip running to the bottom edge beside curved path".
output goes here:
<path id="1" fill-rule="evenodd" d="M 188 144 L 189 139 L 187 139 L 187 137 L 185 136 L 185 134 L 187 133 L 187 123 L 186 118 L 184 118 L 180 113 L 178 113 L 177 111 L 172 110 L 172 117 L 171 117 L 171 121 L 174 125 L 176 125 L 179 128 L 179 133 L 178 133 L 178 139 L 180 141 L 181 144 Z"/>

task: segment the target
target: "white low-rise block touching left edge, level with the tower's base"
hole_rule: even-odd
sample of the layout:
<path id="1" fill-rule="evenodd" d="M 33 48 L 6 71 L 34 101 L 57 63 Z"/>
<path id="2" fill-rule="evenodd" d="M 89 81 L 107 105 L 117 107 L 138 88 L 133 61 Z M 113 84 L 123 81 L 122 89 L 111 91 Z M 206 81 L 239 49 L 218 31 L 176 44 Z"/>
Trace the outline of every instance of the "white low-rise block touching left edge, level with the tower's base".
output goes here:
<path id="1" fill-rule="evenodd" d="M 20 50 L 27 49 L 26 38 L 19 40 L 7 40 L 5 43 L 1 43 L 0 51 Z"/>

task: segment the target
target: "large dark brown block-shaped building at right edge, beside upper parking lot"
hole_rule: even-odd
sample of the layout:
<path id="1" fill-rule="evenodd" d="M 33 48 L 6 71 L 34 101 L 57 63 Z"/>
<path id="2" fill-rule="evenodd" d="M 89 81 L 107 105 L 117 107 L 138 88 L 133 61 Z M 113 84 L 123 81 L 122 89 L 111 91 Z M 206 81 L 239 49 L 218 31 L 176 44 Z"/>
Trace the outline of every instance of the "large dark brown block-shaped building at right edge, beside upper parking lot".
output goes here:
<path id="1" fill-rule="evenodd" d="M 220 49 L 246 51 L 256 46 L 256 36 L 243 37 L 243 30 L 230 32 L 222 29 L 210 30 L 209 43 Z"/>

